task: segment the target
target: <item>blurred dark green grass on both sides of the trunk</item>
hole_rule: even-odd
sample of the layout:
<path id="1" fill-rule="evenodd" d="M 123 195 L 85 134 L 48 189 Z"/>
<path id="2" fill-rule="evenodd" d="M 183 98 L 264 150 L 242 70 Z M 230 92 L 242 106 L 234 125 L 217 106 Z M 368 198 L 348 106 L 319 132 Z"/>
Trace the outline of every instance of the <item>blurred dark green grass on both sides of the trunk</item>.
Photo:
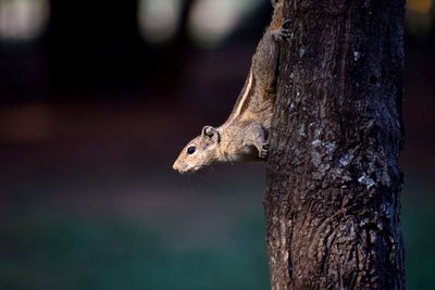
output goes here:
<path id="1" fill-rule="evenodd" d="M 412 198 L 421 191 L 415 196 L 431 199 L 418 185 L 408 182 L 402 200 L 407 283 L 428 290 L 434 211 Z M 254 207 L 225 222 L 226 239 L 187 247 L 171 228 L 133 217 L 10 212 L 0 230 L 0 289 L 268 289 L 262 211 Z"/>

